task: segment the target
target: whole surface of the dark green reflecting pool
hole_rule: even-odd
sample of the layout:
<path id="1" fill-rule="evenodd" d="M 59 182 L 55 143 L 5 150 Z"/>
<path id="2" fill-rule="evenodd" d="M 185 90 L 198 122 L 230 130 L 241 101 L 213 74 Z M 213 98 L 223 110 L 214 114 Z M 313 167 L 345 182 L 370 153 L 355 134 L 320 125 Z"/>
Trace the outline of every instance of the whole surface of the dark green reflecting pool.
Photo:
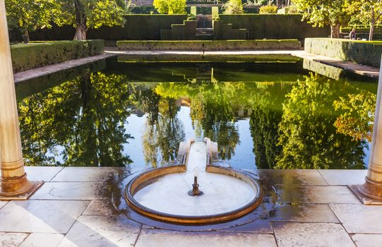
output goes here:
<path id="1" fill-rule="evenodd" d="M 305 68 L 109 59 L 18 83 L 25 162 L 141 169 L 206 136 L 232 167 L 364 169 L 377 83 Z"/>

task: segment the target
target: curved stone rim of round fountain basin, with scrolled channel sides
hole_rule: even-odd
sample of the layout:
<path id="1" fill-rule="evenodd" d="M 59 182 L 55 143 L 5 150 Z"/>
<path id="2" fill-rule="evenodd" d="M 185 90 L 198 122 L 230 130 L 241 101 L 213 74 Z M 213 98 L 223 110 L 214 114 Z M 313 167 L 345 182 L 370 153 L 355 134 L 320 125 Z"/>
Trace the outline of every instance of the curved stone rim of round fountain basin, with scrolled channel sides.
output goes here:
<path id="1" fill-rule="evenodd" d="M 181 143 L 181 145 L 179 145 L 179 155 L 177 161 L 182 161 L 183 164 L 172 164 L 167 167 L 148 169 L 146 171 L 143 171 L 141 174 L 138 174 L 131 181 L 129 181 L 125 191 L 125 200 L 129 207 L 131 207 L 133 210 L 145 217 L 150 217 L 152 219 L 157 219 L 162 222 L 174 224 L 213 224 L 217 222 L 228 222 L 232 219 L 237 219 L 241 216 L 247 215 L 249 212 L 255 210 L 256 207 L 258 207 L 258 205 L 261 204 L 263 198 L 263 191 L 258 181 L 246 171 L 241 171 L 239 169 L 227 167 L 220 167 L 212 164 L 212 162 L 215 161 L 215 158 L 217 158 L 217 154 L 215 153 L 215 151 L 217 151 L 217 148 L 214 148 L 214 146 L 217 147 L 217 145 L 216 143 L 211 142 L 208 138 L 205 138 L 204 141 L 207 144 L 208 152 L 207 165 L 205 167 L 205 171 L 215 174 L 233 176 L 237 179 L 245 181 L 246 183 L 249 183 L 256 191 L 258 191 L 258 193 L 256 193 L 256 196 L 251 200 L 251 202 L 247 203 L 244 206 L 238 207 L 236 210 L 222 212 L 215 215 L 190 216 L 172 215 L 165 212 L 152 210 L 148 207 L 141 205 L 141 203 L 138 203 L 138 201 L 136 201 L 133 198 L 133 195 L 135 195 L 135 193 L 142 188 L 140 188 L 140 186 L 142 186 L 146 181 L 150 179 L 156 179 L 160 176 L 165 176 L 167 174 L 186 171 L 189 148 L 191 146 L 191 143 L 193 143 L 193 139 L 191 139 L 187 141 L 186 144 Z M 184 150 L 186 150 L 186 152 L 183 152 Z"/>

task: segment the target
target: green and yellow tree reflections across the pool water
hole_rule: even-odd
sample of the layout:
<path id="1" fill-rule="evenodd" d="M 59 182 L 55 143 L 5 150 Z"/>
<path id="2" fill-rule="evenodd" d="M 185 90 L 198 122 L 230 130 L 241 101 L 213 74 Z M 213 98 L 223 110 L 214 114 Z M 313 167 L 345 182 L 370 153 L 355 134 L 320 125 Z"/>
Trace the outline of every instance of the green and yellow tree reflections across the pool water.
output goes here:
<path id="1" fill-rule="evenodd" d="M 129 154 L 141 152 L 126 149 L 134 136 L 145 163 L 157 167 L 175 158 L 186 123 L 232 159 L 241 145 L 237 121 L 245 119 L 258 168 L 364 168 L 376 87 L 314 74 L 261 79 L 138 83 L 115 72 L 84 73 L 19 100 L 26 162 L 125 167 L 136 162 Z M 188 119 L 179 116 L 181 105 L 190 108 Z M 131 133 L 131 115 L 145 117 L 141 133 Z"/>

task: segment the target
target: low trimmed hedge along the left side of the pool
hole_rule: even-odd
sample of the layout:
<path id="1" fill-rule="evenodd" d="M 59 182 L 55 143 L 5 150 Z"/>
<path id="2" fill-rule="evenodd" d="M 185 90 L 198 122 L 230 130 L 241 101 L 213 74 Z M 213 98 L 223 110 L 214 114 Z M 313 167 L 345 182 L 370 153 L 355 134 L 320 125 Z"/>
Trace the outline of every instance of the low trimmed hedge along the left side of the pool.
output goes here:
<path id="1" fill-rule="evenodd" d="M 71 59 L 102 54 L 105 50 L 103 40 L 31 42 L 12 44 L 13 73 L 59 64 Z"/>

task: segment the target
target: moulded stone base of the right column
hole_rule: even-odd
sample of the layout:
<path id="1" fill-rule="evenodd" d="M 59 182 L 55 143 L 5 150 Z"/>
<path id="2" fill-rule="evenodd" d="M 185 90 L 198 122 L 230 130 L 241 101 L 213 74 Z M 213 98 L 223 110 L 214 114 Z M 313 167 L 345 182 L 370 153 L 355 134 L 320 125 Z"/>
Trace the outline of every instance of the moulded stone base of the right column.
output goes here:
<path id="1" fill-rule="evenodd" d="M 367 181 L 361 185 L 352 185 L 349 188 L 364 205 L 382 205 L 382 186 Z"/>

